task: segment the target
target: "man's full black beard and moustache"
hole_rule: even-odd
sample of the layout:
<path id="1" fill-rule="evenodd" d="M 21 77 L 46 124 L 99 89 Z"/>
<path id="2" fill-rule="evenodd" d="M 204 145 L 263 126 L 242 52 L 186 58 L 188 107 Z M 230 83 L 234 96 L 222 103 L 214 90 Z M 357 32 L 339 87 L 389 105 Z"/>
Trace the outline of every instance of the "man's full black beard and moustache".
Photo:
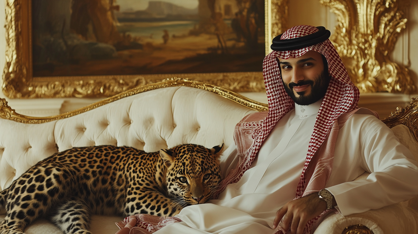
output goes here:
<path id="1" fill-rule="evenodd" d="M 283 82 L 283 86 L 285 88 L 286 93 L 293 99 L 293 101 L 299 105 L 305 106 L 305 105 L 312 104 L 314 102 L 318 102 L 319 99 L 325 96 L 330 80 L 331 80 L 331 76 L 328 76 L 328 71 L 324 69 L 321 72 L 321 74 L 316 76 L 314 81 L 302 80 L 302 81 L 299 81 L 297 84 L 293 82 L 286 84 L 282 79 L 282 82 Z M 302 86 L 306 84 L 311 85 L 311 93 L 306 95 L 305 94 L 306 91 L 296 92 L 299 95 L 299 97 L 296 97 L 295 93 L 293 92 L 293 87 Z"/>

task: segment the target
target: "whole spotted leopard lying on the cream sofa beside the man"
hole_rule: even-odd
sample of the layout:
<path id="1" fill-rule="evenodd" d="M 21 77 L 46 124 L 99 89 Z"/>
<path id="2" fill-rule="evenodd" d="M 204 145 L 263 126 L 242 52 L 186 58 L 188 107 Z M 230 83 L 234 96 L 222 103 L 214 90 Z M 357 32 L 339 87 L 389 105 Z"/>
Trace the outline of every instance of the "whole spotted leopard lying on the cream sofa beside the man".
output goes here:
<path id="1" fill-rule="evenodd" d="M 92 234 L 93 214 L 174 216 L 206 203 L 221 178 L 224 144 L 184 144 L 146 153 L 126 146 L 79 147 L 29 168 L 0 192 L 0 234 L 24 234 L 38 218 L 65 234 Z"/>

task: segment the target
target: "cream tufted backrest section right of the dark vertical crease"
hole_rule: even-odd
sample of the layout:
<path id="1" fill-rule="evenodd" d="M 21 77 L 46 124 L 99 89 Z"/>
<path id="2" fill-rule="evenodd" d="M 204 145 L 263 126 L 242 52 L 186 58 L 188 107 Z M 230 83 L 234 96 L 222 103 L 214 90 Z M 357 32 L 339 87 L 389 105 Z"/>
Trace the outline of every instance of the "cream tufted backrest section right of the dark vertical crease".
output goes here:
<path id="1" fill-rule="evenodd" d="M 93 145 L 130 146 L 146 152 L 185 143 L 212 148 L 233 144 L 234 127 L 255 112 L 212 92 L 191 87 L 156 89 L 58 120 L 59 151 Z"/>

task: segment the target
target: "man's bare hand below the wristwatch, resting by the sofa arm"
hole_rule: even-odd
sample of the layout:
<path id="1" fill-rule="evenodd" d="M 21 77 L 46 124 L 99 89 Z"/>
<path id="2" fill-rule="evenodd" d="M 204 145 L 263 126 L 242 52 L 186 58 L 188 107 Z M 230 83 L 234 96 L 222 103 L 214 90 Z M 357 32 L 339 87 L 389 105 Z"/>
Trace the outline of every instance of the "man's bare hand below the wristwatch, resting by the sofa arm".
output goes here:
<path id="1" fill-rule="evenodd" d="M 325 210 L 326 201 L 319 198 L 318 193 L 289 201 L 277 211 L 273 229 L 280 225 L 285 231 L 288 231 L 290 225 L 291 234 L 303 234 L 306 223 Z"/>

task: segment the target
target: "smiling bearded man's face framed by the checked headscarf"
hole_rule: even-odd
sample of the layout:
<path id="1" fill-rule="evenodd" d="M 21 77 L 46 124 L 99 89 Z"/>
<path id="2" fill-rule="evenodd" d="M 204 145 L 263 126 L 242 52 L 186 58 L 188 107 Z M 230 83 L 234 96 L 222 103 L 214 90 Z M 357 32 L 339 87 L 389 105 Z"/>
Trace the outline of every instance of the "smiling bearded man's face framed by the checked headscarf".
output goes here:
<path id="1" fill-rule="evenodd" d="M 330 76 L 321 53 L 308 51 L 298 58 L 278 58 L 288 95 L 299 105 L 309 105 L 325 96 Z"/>

